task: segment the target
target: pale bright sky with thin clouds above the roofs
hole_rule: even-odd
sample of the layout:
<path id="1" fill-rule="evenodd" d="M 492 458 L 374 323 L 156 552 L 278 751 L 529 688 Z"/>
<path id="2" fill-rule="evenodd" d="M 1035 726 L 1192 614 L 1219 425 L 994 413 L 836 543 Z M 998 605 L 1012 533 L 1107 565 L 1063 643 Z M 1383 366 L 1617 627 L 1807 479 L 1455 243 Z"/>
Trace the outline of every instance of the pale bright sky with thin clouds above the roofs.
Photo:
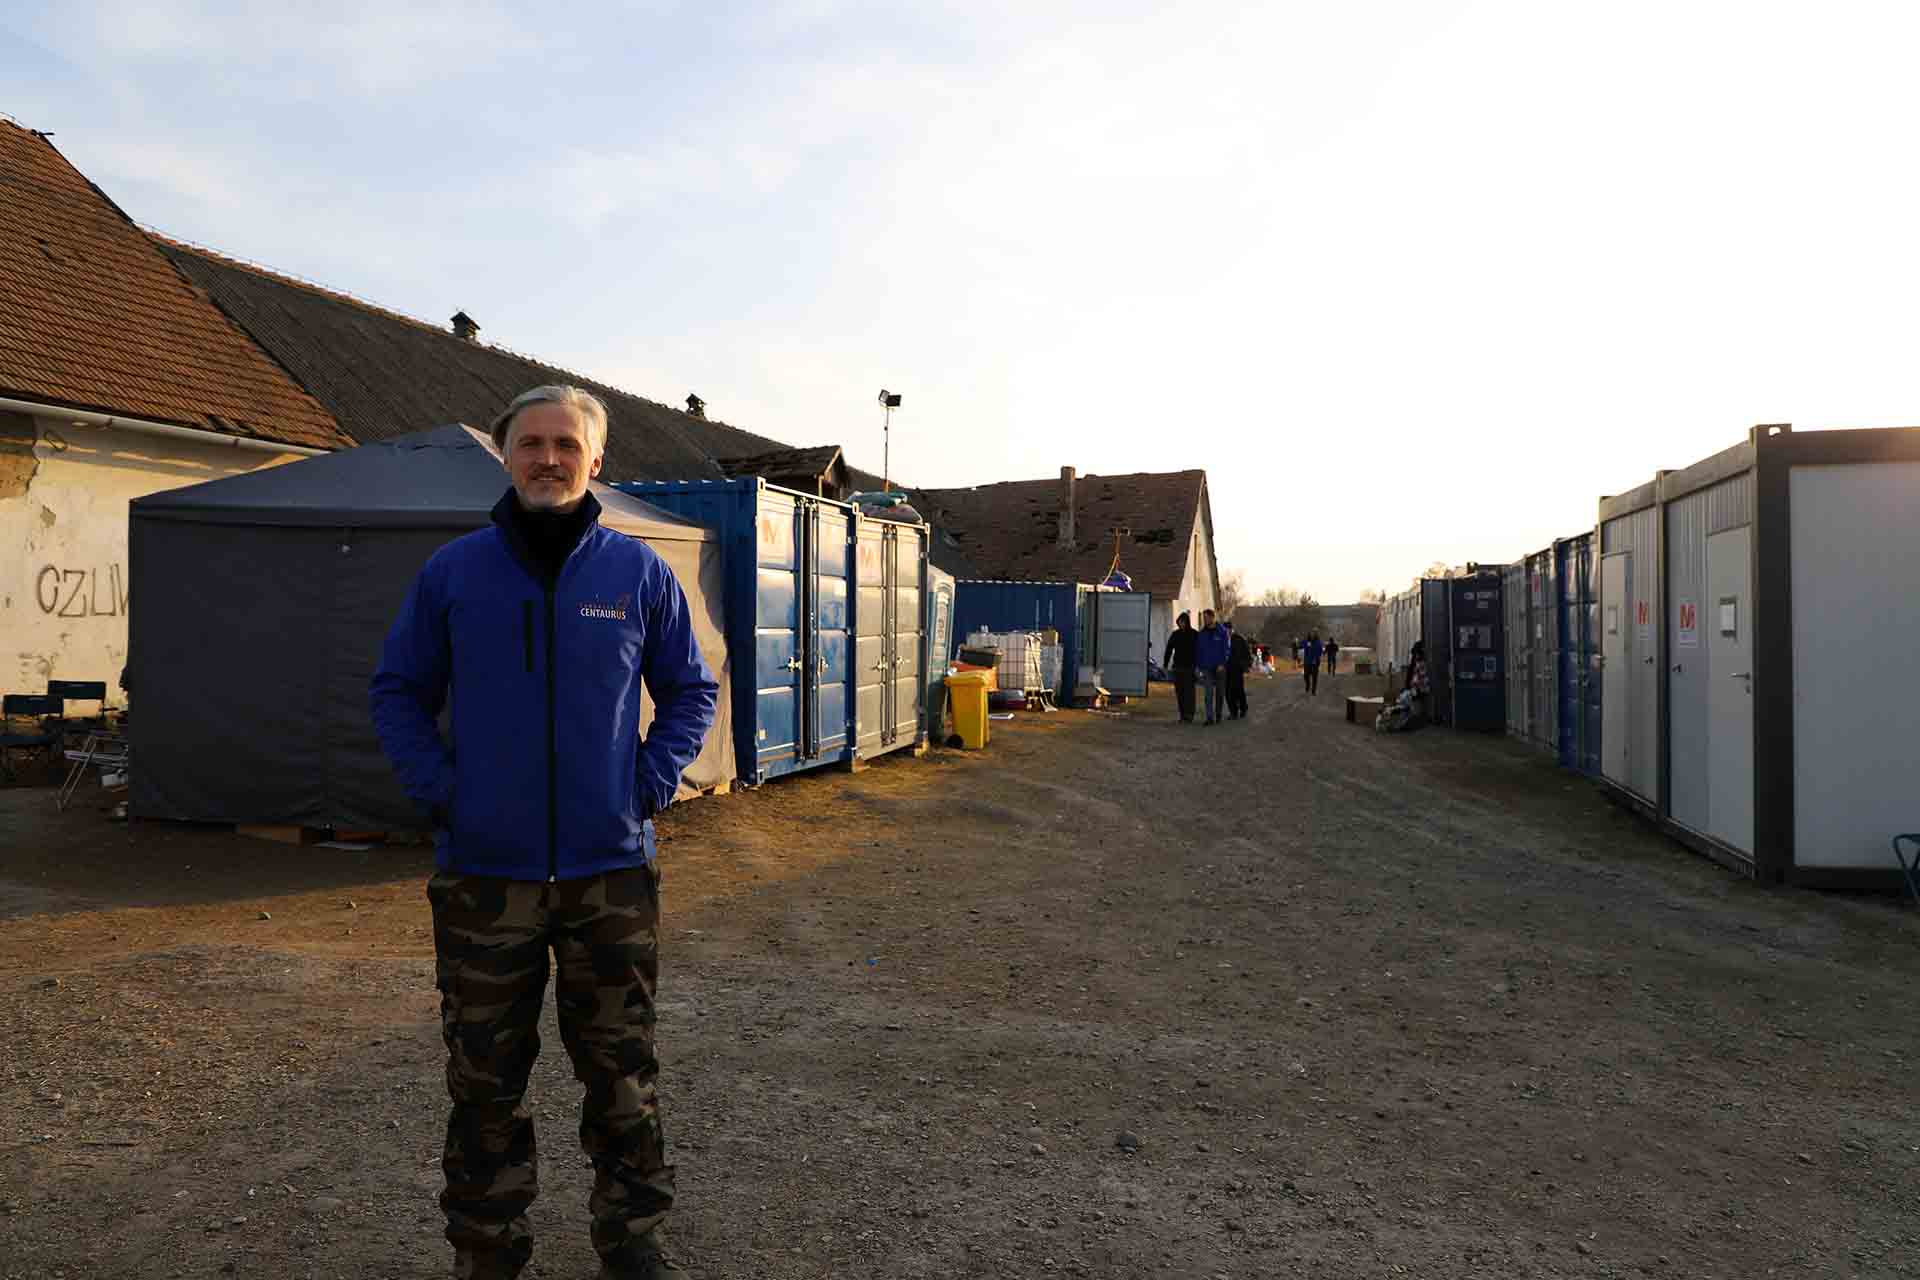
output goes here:
<path id="1" fill-rule="evenodd" d="M 1206 468 L 1321 601 L 1920 422 L 1920 10 L 12 0 L 136 221 L 893 474 Z M 618 424 L 616 424 L 618 428 Z"/>

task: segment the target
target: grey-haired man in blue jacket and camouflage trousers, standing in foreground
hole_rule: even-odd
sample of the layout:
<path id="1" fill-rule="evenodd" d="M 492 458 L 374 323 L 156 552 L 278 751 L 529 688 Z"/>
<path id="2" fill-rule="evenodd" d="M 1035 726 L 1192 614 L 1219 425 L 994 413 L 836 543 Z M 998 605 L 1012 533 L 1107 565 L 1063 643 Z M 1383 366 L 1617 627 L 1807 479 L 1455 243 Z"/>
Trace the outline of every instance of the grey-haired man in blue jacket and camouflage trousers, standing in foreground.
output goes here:
<path id="1" fill-rule="evenodd" d="M 657 1234 L 674 1167 L 655 1094 L 653 816 L 699 754 L 718 685 L 666 564 L 599 528 L 588 482 L 607 407 L 578 388 L 534 388 L 493 422 L 493 443 L 513 487 L 490 528 L 420 570 L 372 677 L 380 743 L 434 825 L 453 1274 L 511 1280 L 534 1253 L 524 1094 L 549 950 L 561 1038 L 586 1084 L 601 1276 L 684 1274 Z M 641 685 L 655 704 L 645 741 Z M 449 702 L 451 741 L 438 729 Z"/>

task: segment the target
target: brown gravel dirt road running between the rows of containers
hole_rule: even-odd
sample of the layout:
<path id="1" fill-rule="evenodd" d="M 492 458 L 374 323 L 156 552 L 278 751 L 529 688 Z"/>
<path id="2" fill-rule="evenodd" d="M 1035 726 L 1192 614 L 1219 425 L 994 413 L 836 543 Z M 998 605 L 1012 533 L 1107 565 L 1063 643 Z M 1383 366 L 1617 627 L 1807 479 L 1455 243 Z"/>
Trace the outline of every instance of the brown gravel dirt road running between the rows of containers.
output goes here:
<path id="1" fill-rule="evenodd" d="M 1354 685 L 676 810 L 699 1274 L 1920 1274 L 1920 915 L 1738 883 L 1509 743 L 1356 729 Z M 422 850 L 44 791 L 0 848 L 0 1276 L 447 1274 Z M 586 1280 L 545 1038 L 528 1274 Z"/>

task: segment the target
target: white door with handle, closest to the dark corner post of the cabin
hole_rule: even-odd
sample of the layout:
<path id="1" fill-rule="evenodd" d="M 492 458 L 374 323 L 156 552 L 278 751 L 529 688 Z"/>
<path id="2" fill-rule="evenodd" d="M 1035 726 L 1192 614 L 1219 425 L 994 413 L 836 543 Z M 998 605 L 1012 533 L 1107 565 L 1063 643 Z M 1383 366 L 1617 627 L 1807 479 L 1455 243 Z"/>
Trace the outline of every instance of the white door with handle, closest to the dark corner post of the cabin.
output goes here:
<path id="1" fill-rule="evenodd" d="M 1753 530 L 1707 539 L 1707 835 L 1753 852 Z"/>

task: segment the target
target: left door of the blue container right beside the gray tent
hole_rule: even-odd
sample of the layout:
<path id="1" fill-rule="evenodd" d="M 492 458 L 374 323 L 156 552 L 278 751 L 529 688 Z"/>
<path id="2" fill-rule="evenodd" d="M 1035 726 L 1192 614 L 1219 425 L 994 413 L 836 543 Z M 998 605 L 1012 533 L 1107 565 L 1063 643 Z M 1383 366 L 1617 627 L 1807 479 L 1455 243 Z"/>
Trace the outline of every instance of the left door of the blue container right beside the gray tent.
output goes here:
<path id="1" fill-rule="evenodd" d="M 801 748 L 803 512 L 781 493 L 762 493 L 755 520 L 755 764 L 785 771 Z"/>

